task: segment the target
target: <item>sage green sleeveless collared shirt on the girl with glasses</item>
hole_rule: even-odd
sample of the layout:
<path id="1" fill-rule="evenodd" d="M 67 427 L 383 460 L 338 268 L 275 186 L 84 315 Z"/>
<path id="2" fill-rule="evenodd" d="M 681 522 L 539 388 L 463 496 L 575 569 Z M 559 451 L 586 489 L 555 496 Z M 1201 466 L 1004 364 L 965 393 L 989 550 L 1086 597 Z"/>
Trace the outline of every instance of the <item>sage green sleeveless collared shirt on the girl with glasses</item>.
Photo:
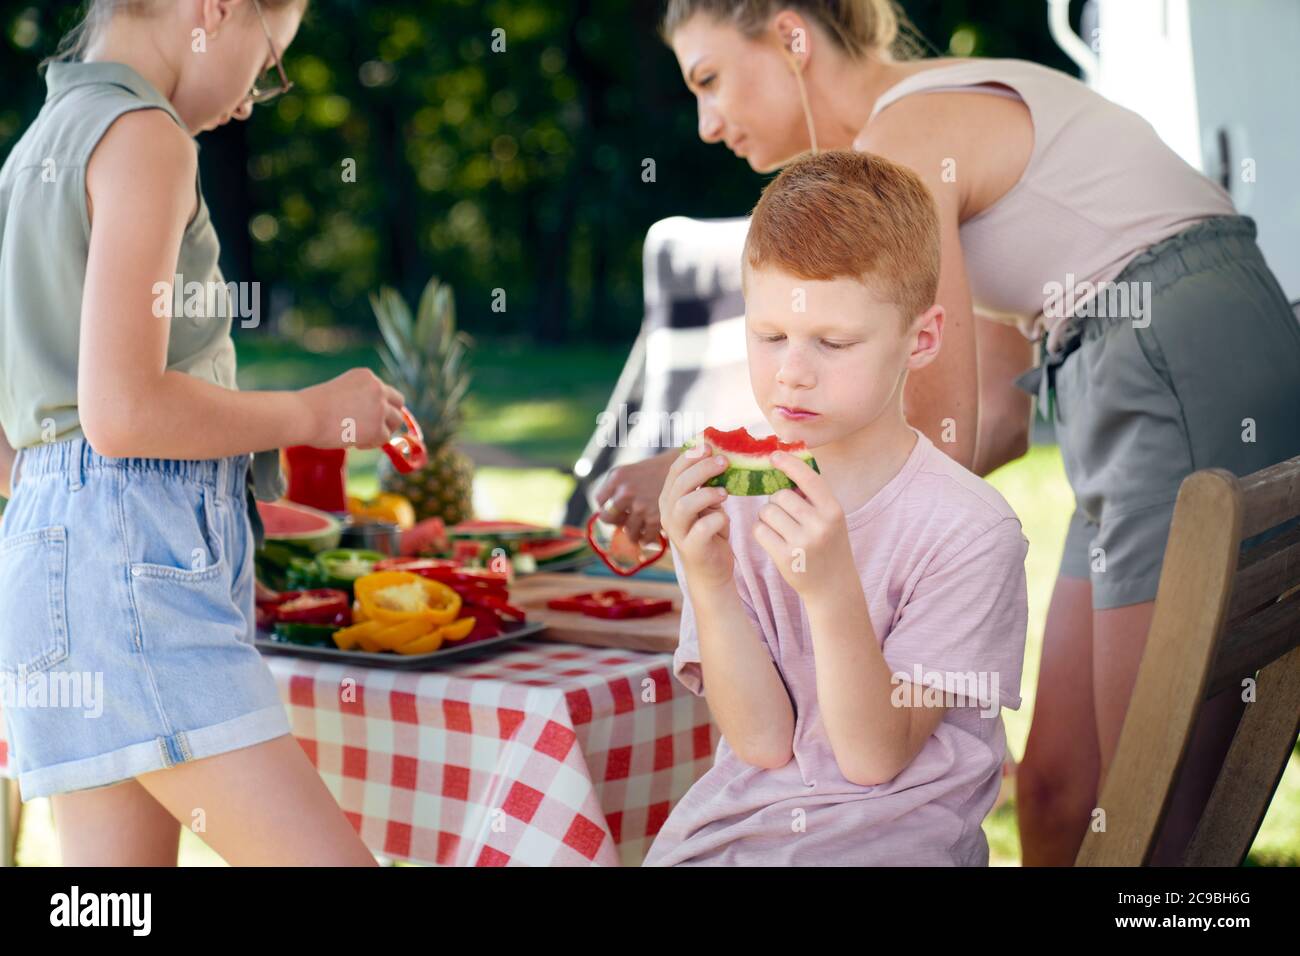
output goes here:
<path id="1" fill-rule="evenodd" d="M 83 437 L 77 356 L 91 153 L 108 127 L 135 109 L 161 109 L 186 129 L 166 96 L 126 64 L 53 62 L 46 83 L 40 113 L 0 168 L 0 427 L 16 449 Z M 239 299 L 221 297 L 229 287 L 217 264 L 220 243 L 198 182 L 195 190 L 199 209 L 181 239 L 176 276 L 182 290 L 202 290 L 191 302 L 205 307 L 166 297 L 182 306 L 172 308 L 166 367 L 235 389 L 235 310 L 222 303 Z M 278 449 L 257 451 L 248 473 L 257 498 L 283 494 Z M 260 523 L 251 518 L 260 540 Z"/>

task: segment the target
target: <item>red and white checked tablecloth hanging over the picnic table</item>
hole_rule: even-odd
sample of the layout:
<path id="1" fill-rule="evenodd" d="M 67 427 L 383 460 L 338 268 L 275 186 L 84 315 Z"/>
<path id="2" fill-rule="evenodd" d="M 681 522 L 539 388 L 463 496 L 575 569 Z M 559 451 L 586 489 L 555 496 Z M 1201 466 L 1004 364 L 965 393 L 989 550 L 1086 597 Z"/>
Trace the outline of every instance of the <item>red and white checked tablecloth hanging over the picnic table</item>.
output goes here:
<path id="1" fill-rule="evenodd" d="M 720 736 L 666 653 L 523 640 L 430 671 L 265 659 L 343 813 L 395 860 L 640 865 Z"/>

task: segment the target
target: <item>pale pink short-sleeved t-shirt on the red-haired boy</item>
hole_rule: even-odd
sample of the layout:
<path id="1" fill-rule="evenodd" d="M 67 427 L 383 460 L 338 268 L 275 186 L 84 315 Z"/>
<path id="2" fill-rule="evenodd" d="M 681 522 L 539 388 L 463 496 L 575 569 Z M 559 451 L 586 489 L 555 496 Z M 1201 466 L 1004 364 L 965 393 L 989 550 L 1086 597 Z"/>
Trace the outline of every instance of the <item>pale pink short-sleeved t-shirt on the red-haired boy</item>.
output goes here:
<path id="1" fill-rule="evenodd" d="M 949 709 L 892 780 L 863 787 L 845 779 L 818 708 L 803 605 L 753 537 L 767 498 L 732 496 L 723 507 L 736 585 L 789 691 L 794 757 L 764 770 L 720 739 L 714 766 L 673 808 L 644 865 L 988 865 L 980 823 L 997 797 L 1006 750 L 1001 709 L 992 702 L 1020 706 L 1028 541 L 992 485 L 913 431 L 916 444 L 904 467 L 845 522 L 885 662 L 909 682 L 965 696 L 967 705 Z M 705 695 L 696 619 L 681 584 L 673 672 Z"/>

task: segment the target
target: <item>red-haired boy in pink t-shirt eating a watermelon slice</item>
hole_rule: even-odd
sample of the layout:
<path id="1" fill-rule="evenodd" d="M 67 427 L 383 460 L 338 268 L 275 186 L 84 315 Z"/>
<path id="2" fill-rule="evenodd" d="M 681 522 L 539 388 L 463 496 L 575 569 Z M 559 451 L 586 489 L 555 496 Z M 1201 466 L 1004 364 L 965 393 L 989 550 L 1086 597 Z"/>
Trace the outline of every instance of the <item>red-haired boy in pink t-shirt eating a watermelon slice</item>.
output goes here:
<path id="1" fill-rule="evenodd" d="M 1028 542 L 904 418 L 942 342 L 935 203 L 878 156 L 801 159 L 742 269 L 754 397 L 798 454 L 707 429 L 668 472 L 673 672 L 722 740 L 645 864 L 987 865 Z"/>

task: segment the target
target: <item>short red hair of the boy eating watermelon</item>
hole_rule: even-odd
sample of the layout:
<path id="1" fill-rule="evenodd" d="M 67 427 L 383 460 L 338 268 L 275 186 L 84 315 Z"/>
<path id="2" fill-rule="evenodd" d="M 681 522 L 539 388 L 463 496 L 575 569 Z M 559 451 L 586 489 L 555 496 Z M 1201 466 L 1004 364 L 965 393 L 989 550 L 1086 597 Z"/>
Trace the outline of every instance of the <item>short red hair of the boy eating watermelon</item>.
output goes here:
<path id="1" fill-rule="evenodd" d="M 919 176 L 883 156 L 802 156 L 763 189 L 744 263 L 797 278 L 857 280 L 897 303 L 906 326 L 939 294 L 939 211 Z"/>

